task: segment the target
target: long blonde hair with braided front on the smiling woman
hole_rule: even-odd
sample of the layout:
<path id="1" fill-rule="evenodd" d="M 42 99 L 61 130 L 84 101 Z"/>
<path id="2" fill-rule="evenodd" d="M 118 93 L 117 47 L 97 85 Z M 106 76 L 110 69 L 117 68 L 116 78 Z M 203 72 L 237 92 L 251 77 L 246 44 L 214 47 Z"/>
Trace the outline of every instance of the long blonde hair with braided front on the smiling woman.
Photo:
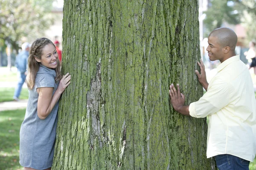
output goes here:
<path id="1" fill-rule="evenodd" d="M 27 83 L 28 89 L 30 90 L 33 89 L 33 87 L 35 86 L 35 76 L 40 66 L 40 63 L 36 61 L 35 58 L 38 58 L 39 60 L 41 60 L 41 56 L 43 55 L 42 53 L 43 48 L 48 44 L 52 44 L 53 46 L 55 46 L 51 40 L 49 40 L 48 38 L 42 37 L 42 38 L 36 39 L 31 45 L 31 48 L 29 51 L 29 59 L 28 59 L 28 75 L 26 76 L 26 83 Z M 61 63 L 58 59 L 57 59 L 57 67 L 54 70 L 56 72 L 55 82 L 57 83 L 62 78 Z"/>

